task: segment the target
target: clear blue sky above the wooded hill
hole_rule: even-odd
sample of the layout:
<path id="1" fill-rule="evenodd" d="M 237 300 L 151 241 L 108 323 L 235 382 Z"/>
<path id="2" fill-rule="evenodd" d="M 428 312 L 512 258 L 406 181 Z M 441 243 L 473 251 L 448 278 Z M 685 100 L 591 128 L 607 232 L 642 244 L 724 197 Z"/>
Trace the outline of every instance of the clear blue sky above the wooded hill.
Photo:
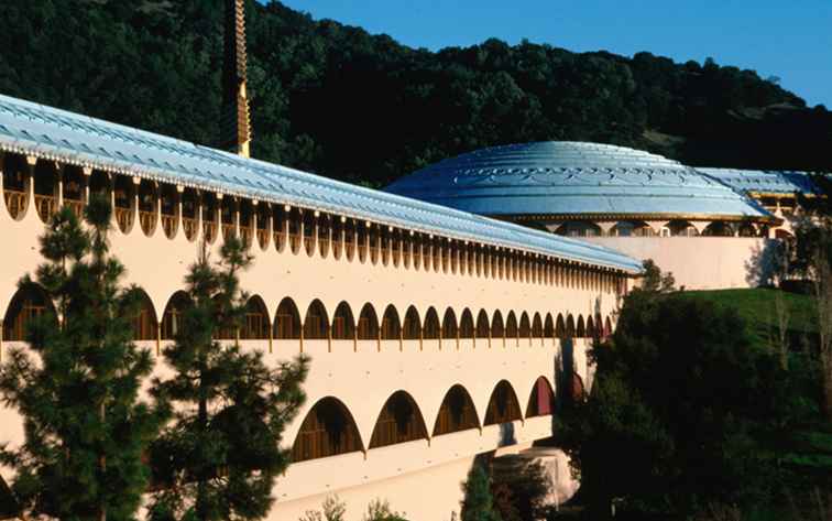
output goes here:
<path id="1" fill-rule="evenodd" d="M 267 1 L 267 0 L 261 0 Z M 832 0 L 282 0 L 436 51 L 489 37 L 751 68 L 832 109 Z"/>

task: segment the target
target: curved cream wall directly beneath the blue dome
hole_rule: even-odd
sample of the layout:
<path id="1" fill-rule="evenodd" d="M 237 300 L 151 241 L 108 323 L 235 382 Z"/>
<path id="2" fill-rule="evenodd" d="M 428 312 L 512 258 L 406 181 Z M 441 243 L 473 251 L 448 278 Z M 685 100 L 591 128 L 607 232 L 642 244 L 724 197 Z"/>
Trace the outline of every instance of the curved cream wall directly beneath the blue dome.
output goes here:
<path id="1" fill-rule="evenodd" d="M 753 287 L 749 265 L 765 257 L 770 239 L 745 237 L 585 237 L 636 259 L 653 259 L 688 290 Z"/>

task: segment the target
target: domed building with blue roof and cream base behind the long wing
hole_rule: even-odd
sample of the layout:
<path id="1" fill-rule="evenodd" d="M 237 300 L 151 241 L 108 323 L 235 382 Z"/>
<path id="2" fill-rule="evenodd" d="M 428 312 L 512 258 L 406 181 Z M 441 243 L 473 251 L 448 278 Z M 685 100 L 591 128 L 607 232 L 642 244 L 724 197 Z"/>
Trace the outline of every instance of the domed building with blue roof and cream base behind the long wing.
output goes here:
<path id="1" fill-rule="evenodd" d="M 693 169 L 633 149 L 540 142 L 448 159 L 386 188 L 653 259 L 688 289 L 747 287 L 791 235 L 804 173 Z"/>

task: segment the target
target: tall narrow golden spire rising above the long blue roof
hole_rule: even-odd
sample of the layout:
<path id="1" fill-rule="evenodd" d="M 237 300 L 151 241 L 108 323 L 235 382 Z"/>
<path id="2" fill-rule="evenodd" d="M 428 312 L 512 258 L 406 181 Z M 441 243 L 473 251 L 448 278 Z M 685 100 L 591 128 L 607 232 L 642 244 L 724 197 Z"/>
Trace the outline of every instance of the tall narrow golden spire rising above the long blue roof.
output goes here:
<path id="1" fill-rule="evenodd" d="M 247 84 L 245 0 L 226 0 L 226 57 L 222 64 L 222 113 L 220 140 L 223 149 L 250 156 L 251 120 Z"/>

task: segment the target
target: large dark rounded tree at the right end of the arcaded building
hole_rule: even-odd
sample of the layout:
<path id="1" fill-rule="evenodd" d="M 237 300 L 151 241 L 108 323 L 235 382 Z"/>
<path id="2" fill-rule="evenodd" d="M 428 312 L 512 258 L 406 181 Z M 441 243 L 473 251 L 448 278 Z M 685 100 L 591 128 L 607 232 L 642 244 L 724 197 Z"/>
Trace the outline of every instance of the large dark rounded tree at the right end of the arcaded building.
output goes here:
<path id="1" fill-rule="evenodd" d="M 613 500 L 675 514 L 753 506 L 799 479 L 777 455 L 817 414 L 814 372 L 797 356 L 785 369 L 734 310 L 635 290 L 591 356 L 595 383 L 562 442 L 599 519 Z"/>

